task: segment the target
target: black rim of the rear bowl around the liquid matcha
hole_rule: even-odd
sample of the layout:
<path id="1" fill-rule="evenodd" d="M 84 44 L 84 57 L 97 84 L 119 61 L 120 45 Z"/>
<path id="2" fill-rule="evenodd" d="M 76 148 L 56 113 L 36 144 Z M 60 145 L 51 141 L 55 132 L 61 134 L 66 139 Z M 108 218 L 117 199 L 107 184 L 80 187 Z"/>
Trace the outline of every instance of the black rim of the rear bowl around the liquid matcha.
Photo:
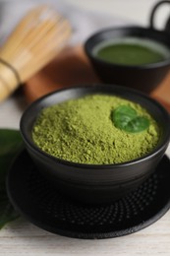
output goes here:
<path id="1" fill-rule="evenodd" d="M 168 32 L 158 31 L 158 30 L 155 30 L 155 29 L 152 29 L 149 27 L 148 28 L 144 28 L 141 26 L 109 27 L 109 28 L 99 30 L 98 32 L 93 32 L 91 35 L 89 35 L 86 38 L 85 43 L 84 43 L 84 49 L 85 49 L 85 53 L 88 56 L 88 58 L 90 58 L 91 60 L 93 60 L 95 62 L 98 62 L 101 65 L 107 65 L 108 67 L 127 68 L 127 69 L 136 69 L 136 70 L 154 69 L 154 68 L 166 67 L 166 66 L 170 65 L 170 56 L 168 59 L 165 59 L 165 60 L 162 60 L 159 62 L 155 62 L 155 63 L 148 63 L 148 64 L 142 64 L 142 65 L 125 65 L 125 64 L 117 64 L 117 63 L 105 61 L 92 53 L 93 47 L 90 47 L 90 43 L 95 37 L 100 36 L 102 33 L 124 31 L 124 30 L 127 30 L 127 31 L 128 30 L 140 30 L 142 32 L 143 31 L 144 32 L 155 32 L 157 34 L 161 34 L 161 36 L 164 34 L 164 36 L 169 38 L 169 41 L 170 41 Z M 157 42 L 157 40 L 155 40 L 155 39 L 152 39 L 152 40 Z M 161 43 L 160 41 L 158 41 L 158 42 Z M 164 45 L 164 43 L 162 43 L 162 44 Z M 96 45 L 97 45 L 97 43 L 96 43 Z M 168 47 L 168 45 L 166 45 L 166 46 Z M 170 46 L 168 47 L 168 49 L 170 50 Z"/>

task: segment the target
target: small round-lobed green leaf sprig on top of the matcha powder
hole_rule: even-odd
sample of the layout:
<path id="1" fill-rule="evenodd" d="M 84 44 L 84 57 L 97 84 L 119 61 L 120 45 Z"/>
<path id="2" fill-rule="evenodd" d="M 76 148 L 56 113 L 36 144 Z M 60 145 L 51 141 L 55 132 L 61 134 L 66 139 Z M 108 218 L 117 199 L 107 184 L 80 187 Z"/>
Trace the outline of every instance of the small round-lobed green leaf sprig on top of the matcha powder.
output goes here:
<path id="1" fill-rule="evenodd" d="M 116 128 L 130 133 L 139 133 L 149 126 L 145 116 L 139 116 L 137 111 L 129 105 L 120 105 L 112 111 L 112 121 Z"/>

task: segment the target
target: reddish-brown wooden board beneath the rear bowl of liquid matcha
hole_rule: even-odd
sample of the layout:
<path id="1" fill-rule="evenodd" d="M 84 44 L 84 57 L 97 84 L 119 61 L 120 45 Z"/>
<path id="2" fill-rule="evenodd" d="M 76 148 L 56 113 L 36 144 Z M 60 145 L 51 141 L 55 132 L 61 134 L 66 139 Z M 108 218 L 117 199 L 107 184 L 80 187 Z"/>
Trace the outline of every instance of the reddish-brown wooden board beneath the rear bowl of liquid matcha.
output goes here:
<path id="1" fill-rule="evenodd" d="M 65 48 L 56 59 L 28 80 L 24 92 L 28 102 L 55 90 L 76 85 L 101 83 L 94 74 L 82 46 Z M 170 73 L 152 92 L 170 112 Z"/>

